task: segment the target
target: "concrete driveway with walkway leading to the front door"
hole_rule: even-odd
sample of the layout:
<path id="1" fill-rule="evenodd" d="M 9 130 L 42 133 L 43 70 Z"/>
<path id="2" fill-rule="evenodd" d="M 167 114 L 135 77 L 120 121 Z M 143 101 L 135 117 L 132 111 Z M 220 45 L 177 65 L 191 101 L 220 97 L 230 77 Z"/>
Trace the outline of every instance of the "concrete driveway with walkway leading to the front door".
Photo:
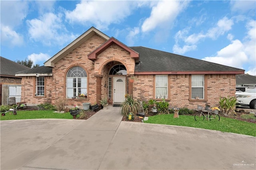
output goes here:
<path id="1" fill-rule="evenodd" d="M 256 169 L 256 138 L 122 122 L 118 107 L 88 120 L 1 121 L 1 170 Z"/>

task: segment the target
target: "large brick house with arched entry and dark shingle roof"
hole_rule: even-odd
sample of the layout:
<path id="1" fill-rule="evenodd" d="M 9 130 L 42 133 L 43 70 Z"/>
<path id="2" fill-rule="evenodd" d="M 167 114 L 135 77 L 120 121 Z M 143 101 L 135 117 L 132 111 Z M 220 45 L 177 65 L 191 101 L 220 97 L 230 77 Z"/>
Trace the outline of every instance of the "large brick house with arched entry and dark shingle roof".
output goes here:
<path id="1" fill-rule="evenodd" d="M 121 103 L 129 93 L 142 101 L 165 98 L 170 106 L 196 108 L 217 106 L 220 96 L 234 96 L 236 74 L 243 73 L 200 59 L 128 47 L 92 27 L 44 66 L 16 76 L 22 77 L 22 98 L 29 104 L 56 104 L 66 98 L 68 105 L 93 105 L 104 96 Z M 80 99 L 81 93 L 87 98 Z"/>

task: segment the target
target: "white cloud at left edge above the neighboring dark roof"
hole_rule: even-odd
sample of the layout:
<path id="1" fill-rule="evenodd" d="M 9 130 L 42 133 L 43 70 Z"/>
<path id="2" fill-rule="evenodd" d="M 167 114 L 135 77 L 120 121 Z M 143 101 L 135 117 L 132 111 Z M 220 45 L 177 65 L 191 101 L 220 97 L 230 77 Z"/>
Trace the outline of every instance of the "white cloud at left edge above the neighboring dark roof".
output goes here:
<path id="1" fill-rule="evenodd" d="M 1 25 L 1 44 L 20 46 L 23 44 L 22 35 L 18 34 L 8 26 Z"/>

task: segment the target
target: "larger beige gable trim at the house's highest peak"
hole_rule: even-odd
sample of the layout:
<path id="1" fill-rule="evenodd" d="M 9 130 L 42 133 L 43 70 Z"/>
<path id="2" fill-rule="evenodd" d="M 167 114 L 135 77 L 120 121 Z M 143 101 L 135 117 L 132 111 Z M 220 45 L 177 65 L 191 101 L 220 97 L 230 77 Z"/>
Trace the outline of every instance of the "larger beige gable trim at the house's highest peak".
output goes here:
<path id="1" fill-rule="evenodd" d="M 54 67 L 54 64 L 59 61 L 60 59 L 62 59 L 62 57 L 64 57 L 65 55 L 67 55 L 68 53 L 70 53 L 70 51 L 74 50 L 76 47 L 78 47 L 79 45 L 81 45 L 83 42 L 85 42 L 86 40 L 88 40 L 91 36 L 93 36 L 94 34 L 97 34 L 98 36 L 102 37 L 105 40 L 108 40 L 109 37 L 106 34 L 103 34 L 102 32 L 100 32 L 99 30 L 97 30 L 94 27 L 91 27 L 89 30 L 87 30 L 86 32 L 84 32 L 84 34 L 82 34 L 81 36 L 79 36 L 78 38 L 76 38 L 76 40 L 74 40 L 72 43 L 68 44 L 66 47 L 64 47 L 61 51 L 59 51 L 58 53 L 56 53 L 53 57 L 51 57 L 50 59 L 48 59 L 45 63 L 44 66 L 48 66 L 48 67 Z"/>

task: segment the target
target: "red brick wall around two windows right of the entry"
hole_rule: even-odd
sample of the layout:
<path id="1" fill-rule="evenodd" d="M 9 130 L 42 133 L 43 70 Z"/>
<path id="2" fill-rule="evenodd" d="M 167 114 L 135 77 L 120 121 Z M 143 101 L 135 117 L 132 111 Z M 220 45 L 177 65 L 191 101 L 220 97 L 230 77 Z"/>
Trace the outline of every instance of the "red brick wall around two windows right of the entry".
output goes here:
<path id="1" fill-rule="evenodd" d="M 207 81 L 207 101 L 189 101 L 189 75 L 169 75 L 169 101 L 171 107 L 188 107 L 195 109 L 197 105 L 219 106 L 219 97 L 234 96 L 236 89 L 235 75 L 205 75 Z M 148 101 L 154 96 L 153 75 L 138 75 L 134 81 L 134 97 Z"/>

